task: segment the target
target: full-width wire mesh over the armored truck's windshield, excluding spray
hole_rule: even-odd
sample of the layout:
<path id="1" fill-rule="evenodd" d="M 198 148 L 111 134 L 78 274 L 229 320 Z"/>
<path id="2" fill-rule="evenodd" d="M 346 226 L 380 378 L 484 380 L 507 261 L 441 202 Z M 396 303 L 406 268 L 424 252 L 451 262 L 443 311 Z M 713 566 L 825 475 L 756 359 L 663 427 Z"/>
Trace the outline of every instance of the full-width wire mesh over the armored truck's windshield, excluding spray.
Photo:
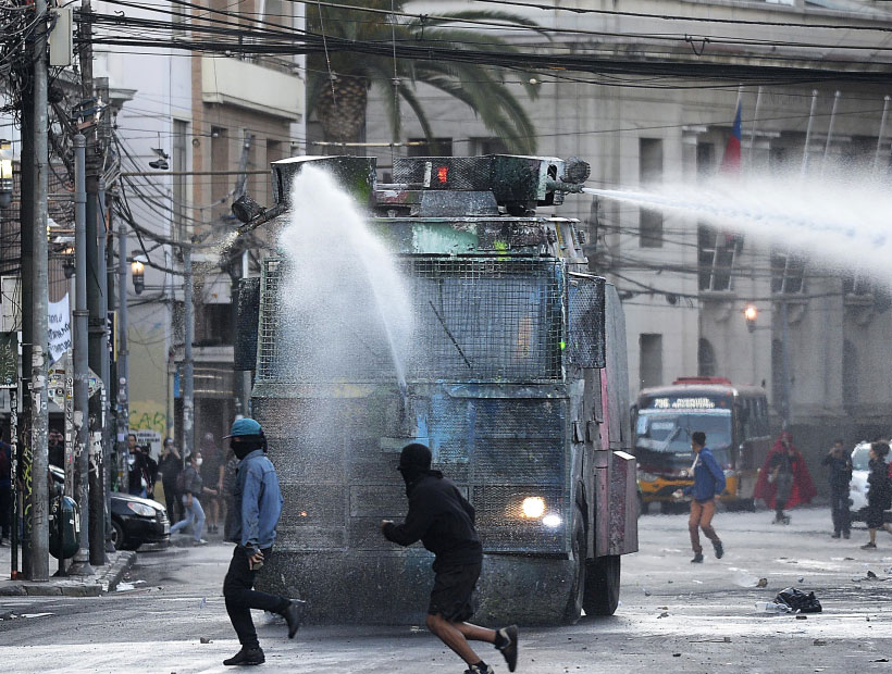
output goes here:
<path id="1" fill-rule="evenodd" d="M 262 275 L 260 382 L 311 380 L 297 366 L 282 330 L 283 260 L 267 260 Z M 407 379 L 556 382 L 562 378 L 566 287 L 553 259 L 407 257 L 401 259 L 414 316 L 406 357 Z M 386 335 L 355 336 L 350 351 L 388 353 Z M 349 336 L 343 337 L 349 339 Z M 333 378 L 389 382 L 388 358 L 357 358 Z"/>

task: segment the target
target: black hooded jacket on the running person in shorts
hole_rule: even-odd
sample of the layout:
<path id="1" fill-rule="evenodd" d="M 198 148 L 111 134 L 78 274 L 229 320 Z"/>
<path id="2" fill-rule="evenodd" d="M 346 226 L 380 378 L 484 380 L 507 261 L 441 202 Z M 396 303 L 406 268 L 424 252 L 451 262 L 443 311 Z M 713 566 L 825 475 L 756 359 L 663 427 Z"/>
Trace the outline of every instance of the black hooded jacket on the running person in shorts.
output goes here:
<path id="1" fill-rule="evenodd" d="M 436 556 L 434 571 L 483 560 L 483 548 L 474 529 L 473 506 L 449 479 L 435 471 L 411 485 L 406 522 L 385 525 L 384 536 L 400 546 L 410 546 L 420 539 Z"/>

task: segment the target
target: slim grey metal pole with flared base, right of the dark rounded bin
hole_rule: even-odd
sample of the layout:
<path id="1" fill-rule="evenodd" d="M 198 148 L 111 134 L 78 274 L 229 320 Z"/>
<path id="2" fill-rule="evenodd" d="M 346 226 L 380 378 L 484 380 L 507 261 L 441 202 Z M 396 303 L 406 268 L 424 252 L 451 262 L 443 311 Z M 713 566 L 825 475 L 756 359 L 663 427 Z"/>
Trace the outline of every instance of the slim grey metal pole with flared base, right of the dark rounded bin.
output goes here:
<path id="1" fill-rule="evenodd" d="M 74 452 L 77 461 L 77 490 L 80 507 L 80 547 L 69 569 L 70 575 L 92 575 L 89 562 L 90 503 L 87 490 L 90 471 L 87 446 L 89 442 L 89 365 L 87 364 L 87 191 L 86 138 L 74 137 Z"/>

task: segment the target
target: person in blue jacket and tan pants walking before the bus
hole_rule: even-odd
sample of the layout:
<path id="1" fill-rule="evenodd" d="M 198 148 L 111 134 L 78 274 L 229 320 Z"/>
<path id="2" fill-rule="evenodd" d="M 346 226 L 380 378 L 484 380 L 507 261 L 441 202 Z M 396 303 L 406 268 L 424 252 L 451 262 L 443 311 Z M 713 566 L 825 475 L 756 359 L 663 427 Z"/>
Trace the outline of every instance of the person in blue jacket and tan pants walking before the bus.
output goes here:
<path id="1" fill-rule="evenodd" d="M 684 488 L 691 499 L 691 516 L 687 528 L 691 532 L 691 547 L 694 549 L 692 564 L 703 563 L 703 546 L 699 545 L 699 529 L 713 541 L 716 559 L 721 559 L 724 548 L 716 529 L 713 528 L 713 516 L 716 514 L 716 497 L 724 491 L 724 471 L 716 461 L 713 452 L 706 447 L 706 434 L 695 430 L 691 434 L 691 449 L 694 450 L 694 484 Z"/>

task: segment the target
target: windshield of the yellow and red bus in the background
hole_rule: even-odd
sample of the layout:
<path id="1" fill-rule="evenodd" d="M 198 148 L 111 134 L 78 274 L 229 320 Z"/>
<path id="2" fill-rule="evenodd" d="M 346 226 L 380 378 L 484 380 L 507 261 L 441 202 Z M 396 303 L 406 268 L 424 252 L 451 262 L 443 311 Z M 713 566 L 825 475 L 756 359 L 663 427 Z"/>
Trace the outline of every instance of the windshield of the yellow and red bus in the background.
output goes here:
<path id="1" fill-rule="evenodd" d="M 731 411 L 654 411 L 642 410 L 635 427 L 635 448 L 652 452 L 691 453 L 691 435 L 706 434 L 706 445 L 724 453 L 731 447 Z"/>

